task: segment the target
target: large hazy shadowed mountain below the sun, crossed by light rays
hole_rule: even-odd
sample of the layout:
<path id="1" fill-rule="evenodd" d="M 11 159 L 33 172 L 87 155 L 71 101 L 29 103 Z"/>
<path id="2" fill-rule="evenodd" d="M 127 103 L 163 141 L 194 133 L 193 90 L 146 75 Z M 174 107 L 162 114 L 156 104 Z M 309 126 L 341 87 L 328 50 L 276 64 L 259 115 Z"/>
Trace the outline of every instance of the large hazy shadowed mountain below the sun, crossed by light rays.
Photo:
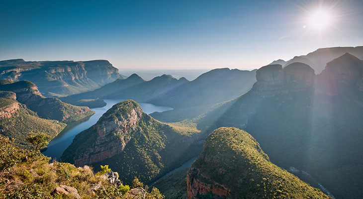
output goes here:
<path id="1" fill-rule="evenodd" d="M 216 107 L 198 126 L 245 129 L 275 164 L 306 171 L 337 199 L 360 198 L 363 189 L 352 186 L 363 185 L 355 175 L 363 165 L 362 61 L 344 54 L 316 76 L 304 64 L 285 71 L 289 66 L 259 69 L 250 92 Z"/>

